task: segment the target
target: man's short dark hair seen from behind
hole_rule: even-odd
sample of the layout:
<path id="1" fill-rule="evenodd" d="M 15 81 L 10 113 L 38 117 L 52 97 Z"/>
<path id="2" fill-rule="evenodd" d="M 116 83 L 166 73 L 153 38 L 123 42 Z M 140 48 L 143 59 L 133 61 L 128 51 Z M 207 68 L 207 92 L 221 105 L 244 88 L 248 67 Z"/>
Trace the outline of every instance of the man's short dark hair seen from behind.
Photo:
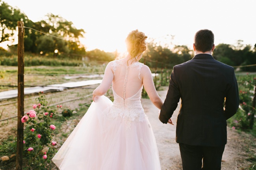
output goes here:
<path id="1" fill-rule="evenodd" d="M 211 30 L 201 29 L 197 31 L 194 38 L 195 49 L 197 51 L 210 51 L 214 45 L 214 35 Z"/>

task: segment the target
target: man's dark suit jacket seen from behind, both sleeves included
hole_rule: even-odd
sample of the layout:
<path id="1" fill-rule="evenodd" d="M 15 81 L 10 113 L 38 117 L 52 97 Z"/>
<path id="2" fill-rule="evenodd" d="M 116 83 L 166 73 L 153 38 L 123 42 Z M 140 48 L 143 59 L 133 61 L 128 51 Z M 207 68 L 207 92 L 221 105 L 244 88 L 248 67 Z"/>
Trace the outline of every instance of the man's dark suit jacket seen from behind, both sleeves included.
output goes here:
<path id="1" fill-rule="evenodd" d="M 239 106 L 234 68 L 198 54 L 173 67 L 159 119 L 167 123 L 181 100 L 176 142 L 197 146 L 226 144 L 226 120 Z"/>

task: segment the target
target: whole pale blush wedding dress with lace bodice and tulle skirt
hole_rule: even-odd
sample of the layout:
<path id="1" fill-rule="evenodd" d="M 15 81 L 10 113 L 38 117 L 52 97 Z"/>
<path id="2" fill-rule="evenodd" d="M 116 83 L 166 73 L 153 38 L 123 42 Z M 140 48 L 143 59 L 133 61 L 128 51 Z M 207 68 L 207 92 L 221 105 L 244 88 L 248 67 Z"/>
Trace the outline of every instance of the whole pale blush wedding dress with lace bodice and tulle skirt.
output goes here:
<path id="1" fill-rule="evenodd" d="M 141 106 L 144 65 L 109 64 L 114 102 L 97 97 L 52 161 L 60 170 L 161 170 L 154 133 Z"/>

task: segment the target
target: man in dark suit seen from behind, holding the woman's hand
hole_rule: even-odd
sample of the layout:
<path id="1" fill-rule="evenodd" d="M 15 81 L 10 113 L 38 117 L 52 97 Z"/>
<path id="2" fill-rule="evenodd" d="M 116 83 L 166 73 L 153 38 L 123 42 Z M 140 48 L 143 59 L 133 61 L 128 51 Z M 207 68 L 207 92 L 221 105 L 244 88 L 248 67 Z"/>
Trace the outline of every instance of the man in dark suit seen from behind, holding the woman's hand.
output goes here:
<path id="1" fill-rule="evenodd" d="M 239 106 L 234 68 L 215 60 L 211 55 L 214 48 L 212 31 L 197 31 L 195 57 L 173 67 L 159 115 L 161 122 L 171 123 L 181 99 L 176 142 L 183 170 L 221 170 L 227 142 L 226 120 Z"/>

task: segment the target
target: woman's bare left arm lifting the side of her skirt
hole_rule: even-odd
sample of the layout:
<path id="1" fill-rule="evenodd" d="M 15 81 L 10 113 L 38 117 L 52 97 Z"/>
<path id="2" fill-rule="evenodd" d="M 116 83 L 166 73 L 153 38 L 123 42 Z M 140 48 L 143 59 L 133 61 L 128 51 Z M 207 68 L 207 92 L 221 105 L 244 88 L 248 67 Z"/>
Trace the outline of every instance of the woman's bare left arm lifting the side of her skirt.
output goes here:
<path id="1" fill-rule="evenodd" d="M 95 102 L 95 97 L 96 96 L 104 95 L 108 91 L 108 89 L 109 89 L 109 87 L 112 83 L 113 78 L 114 78 L 114 75 L 113 75 L 113 72 L 111 70 L 111 66 L 110 66 L 110 62 L 109 62 L 108 65 L 106 66 L 102 82 L 93 91 L 93 101 L 94 102 Z"/>

